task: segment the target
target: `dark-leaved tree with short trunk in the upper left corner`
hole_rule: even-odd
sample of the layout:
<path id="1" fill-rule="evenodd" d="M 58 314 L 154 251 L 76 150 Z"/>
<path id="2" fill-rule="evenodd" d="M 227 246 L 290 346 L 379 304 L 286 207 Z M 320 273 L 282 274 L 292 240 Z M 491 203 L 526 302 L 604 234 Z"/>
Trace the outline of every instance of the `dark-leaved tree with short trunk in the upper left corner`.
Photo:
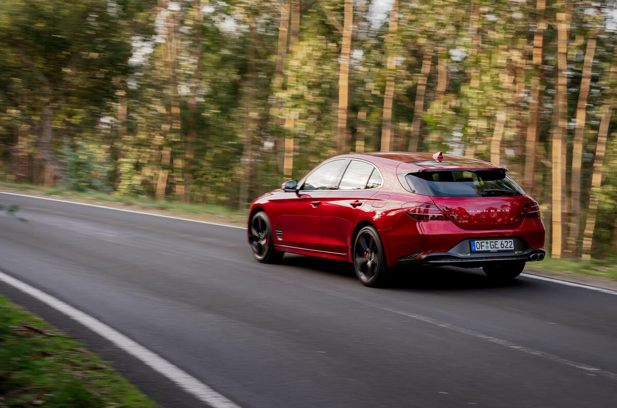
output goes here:
<path id="1" fill-rule="evenodd" d="M 36 135 L 42 167 L 35 179 L 44 186 L 62 179 L 54 153 L 59 110 L 100 112 L 129 69 L 118 11 L 102 0 L 0 2 L 0 99 Z"/>

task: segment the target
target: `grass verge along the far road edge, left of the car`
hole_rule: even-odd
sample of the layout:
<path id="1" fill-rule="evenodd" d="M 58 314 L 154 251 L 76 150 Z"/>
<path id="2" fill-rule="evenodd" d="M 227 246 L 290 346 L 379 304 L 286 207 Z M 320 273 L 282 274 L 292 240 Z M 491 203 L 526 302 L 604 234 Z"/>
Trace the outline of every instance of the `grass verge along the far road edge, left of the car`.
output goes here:
<path id="1" fill-rule="evenodd" d="M 246 226 L 246 211 L 233 210 L 223 205 L 193 204 L 170 200 L 152 200 L 147 197 L 114 195 L 97 192 L 77 192 L 57 188 L 44 188 L 31 184 L 0 182 L 0 190 L 42 197 L 61 198 L 83 203 L 100 204 L 126 210 L 148 210 L 152 213 L 197 219 L 199 221 L 222 222 Z"/>

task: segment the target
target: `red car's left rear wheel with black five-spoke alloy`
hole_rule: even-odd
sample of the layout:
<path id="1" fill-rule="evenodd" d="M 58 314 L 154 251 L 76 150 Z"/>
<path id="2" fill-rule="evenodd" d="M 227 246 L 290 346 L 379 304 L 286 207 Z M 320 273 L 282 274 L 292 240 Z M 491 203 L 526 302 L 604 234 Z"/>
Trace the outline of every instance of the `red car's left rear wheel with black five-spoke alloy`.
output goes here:
<path id="1" fill-rule="evenodd" d="M 379 234 L 372 226 L 358 232 L 354 241 L 354 267 L 358 279 L 366 286 L 376 287 L 386 275 L 386 256 Z"/>

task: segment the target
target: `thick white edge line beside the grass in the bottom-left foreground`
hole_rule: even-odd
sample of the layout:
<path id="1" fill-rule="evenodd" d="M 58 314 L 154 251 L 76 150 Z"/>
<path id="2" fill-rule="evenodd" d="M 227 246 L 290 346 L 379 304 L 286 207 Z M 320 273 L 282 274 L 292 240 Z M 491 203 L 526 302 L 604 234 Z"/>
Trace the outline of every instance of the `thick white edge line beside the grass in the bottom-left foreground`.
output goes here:
<path id="1" fill-rule="evenodd" d="M 126 353 L 131 354 L 131 356 L 135 357 L 139 361 L 149 365 L 149 367 L 153 370 L 173 381 L 173 383 L 180 386 L 180 388 L 184 391 L 192 394 L 200 401 L 205 402 L 205 404 L 209 404 L 213 408 L 239 408 L 239 406 L 230 401 L 230 399 L 227 399 L 225 396 L 217 393 L 217 391 L 212 390 L 212 388 L 197 380 L 197 378 L 184 372 L 176 365 L 173 365 L 163 357 L 153 353 L 136 341 L 131 340 L 114 328 L 111 328 L 103 322 L 94 319 L 94 317 L 89 316 L 88 314 L 73 308 L 73 306 L 54 298 L 54 296 L 48 295 L 47 293 L 44 293 L 41 290 L 38 290 L 37 288 L 32 287 L 19 279 L 15 279 L 14 277 L 1 271 L 0 280 L 21 290 L 24 293 L 27 293 L 33 298 L 47 304 L 51 308 L 56 309 L 57 311 L 84 325 L 97 335 L 111 341 L 118 348 L 123 349 Z"/>

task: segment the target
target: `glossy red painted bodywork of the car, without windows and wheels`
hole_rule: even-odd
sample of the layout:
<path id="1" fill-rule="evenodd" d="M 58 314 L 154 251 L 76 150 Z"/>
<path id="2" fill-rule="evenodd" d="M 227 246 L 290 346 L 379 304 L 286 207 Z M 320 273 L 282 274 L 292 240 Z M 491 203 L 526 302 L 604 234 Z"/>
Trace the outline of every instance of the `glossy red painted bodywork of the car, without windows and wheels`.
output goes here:
<path id="1" fill-rule="evenodd" d="M 407 152 L 333 157 L 323 163 L 332 160 L 370 163 L 378 169 L 381 185 L 363 190 L 300 189 L 296 192 L 277 189 L 257 198 L 251 205 L 250 214 L 260 210 L 267 213 L 276 250 L 348 262 L 352 262 L 351 247 L 355 232 L 368 224 L 379 233 L 388 266 L 401 264 L 402 261 L 426 263 L 437 259 L 431 258 L 431 255 L 450 256 L 453 248 L 458 245 L 460 250 L 467 245 L 462 242 L 469 239 L 512 237 L 519 242 L 520 253 L 516 256 L 531 253 L 544 255 L 542 220 L 531 214 L 526 216 L 535 203 L 529 195 L 432 197 L 415 194 L 404 187 L 404 179 L 402 181 L 400 177 L 418 171 L 505 169 L 487 161 L 448 154 L 442 156 L 442 161 L 435 160 L 431 153 Z M 303 185 L 307 176 L 299 181 L 298 186 Z M 410 202 L 437 205 L 447 218 L 431 221 L 414 219 L 404 210 L 405 203 Z M 415 255 L 410 256 L 412 254 Z M 501 255 L 487 254 L 497 257 L 494 259 Z M 459 264 L 460 261 L 465 266 L 464 263 L 471 260 L 465 256 L 469 255 L 460 255 L 449 262 L 449 258 L 442 258 L 445 259 L 444 263 Z"/>

